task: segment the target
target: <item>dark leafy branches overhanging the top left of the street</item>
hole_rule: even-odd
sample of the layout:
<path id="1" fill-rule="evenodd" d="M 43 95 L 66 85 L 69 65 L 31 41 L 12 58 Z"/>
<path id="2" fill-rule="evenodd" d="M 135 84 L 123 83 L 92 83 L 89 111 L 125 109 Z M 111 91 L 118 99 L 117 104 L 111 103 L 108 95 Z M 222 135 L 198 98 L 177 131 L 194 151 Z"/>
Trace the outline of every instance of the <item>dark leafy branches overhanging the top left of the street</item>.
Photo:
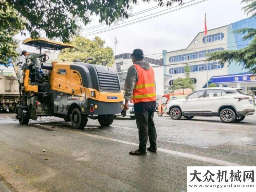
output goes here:
<path id="1" fill-rule="evenodd" d="M 163 5 L 164 0 L 154 1 Z M 167 6 L 173 2 L 182 3 L 182 0 L 167 0 Z M 13 52 L 17 42 L 11 37 L 18 31 L 24 34 L 22 30 L 28 30 L 32 38 L 39 38 L 40 32 L 45 31 L 47 38 L 59 38 L 68 43 L 79 33 L 80 23 L 86 26 L 91 21 L 91 15 L 98 15 L 99 22 L 110 25 L 119 18 L 128 18 L 128 8 L 136 3 L 137 0 L 0 0 L 0 61 L 6 64 L 7 60 L 17 56 Z"/>

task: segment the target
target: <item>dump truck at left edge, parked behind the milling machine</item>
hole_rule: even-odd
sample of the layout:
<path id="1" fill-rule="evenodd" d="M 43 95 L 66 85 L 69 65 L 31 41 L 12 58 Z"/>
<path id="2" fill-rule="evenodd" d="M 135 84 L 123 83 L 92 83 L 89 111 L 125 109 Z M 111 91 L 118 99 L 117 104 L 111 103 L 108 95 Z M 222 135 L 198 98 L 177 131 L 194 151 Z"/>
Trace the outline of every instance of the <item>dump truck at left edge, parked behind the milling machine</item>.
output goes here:
<path id="1" fill-rule="evenodd" d="M 14 112 L 19 103 L 19 82 L 16 77 L 0 74 L 0 110 Z"/>

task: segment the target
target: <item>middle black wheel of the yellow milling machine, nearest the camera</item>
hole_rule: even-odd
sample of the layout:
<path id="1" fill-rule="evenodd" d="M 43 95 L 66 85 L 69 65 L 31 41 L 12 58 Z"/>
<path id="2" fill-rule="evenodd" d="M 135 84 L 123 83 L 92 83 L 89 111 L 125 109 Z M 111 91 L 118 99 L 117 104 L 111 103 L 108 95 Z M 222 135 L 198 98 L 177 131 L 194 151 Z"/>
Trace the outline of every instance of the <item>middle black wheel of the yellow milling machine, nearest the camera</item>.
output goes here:
<path id="1" fill-rule="evenodd" d="M 73 109 L 71 113 L 71 124 L 74 129 L 84 129 L 87 121 L 87 115 L 81 114 L 81 111 L 78 108 Z"/>

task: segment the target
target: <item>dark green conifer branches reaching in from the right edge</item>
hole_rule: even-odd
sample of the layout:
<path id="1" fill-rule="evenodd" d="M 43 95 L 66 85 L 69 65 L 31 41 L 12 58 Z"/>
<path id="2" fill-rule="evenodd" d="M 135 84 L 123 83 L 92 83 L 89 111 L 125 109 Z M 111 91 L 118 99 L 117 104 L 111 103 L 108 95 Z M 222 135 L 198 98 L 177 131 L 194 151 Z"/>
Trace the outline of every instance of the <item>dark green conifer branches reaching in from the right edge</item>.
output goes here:
<path id="1" fill-rule="evenodd" d="M 251 14 L 252 17 L 256 17 L 256 1 L 255 0 L 243 0 L 242 3 L 247 3 L 243 10 L 247 14 Z M 207 60 L 220 60 L 220 63 L 224 64 L 232 61 L 238 63 L 244 63 L 244 68 L 249 69 L 253 73 L 256 73 L 256 29 L 255 28 L 243 28 L 234 31 L 234 33 L 241 33 L 245 36 L 242 40 L 252 40 L 251 43 L 239 50 L 233 51 L 218 51 L 208 54 Z"/>

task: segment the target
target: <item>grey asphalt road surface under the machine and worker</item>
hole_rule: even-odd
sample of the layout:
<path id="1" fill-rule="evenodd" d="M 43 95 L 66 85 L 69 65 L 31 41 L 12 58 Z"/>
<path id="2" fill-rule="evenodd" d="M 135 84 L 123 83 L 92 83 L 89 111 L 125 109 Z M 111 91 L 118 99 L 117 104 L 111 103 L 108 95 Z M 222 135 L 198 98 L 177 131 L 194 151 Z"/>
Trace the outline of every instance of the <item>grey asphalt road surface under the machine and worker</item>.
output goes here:
<path id="1" fill-rule="evenodd" d="M 7 182 L 11 191 L 186 191 L 187 166 L 256 166 L 256 115 L 234 124 L 156 115 L 155 123 L 158 152 L 131 156 L 138 129 L 129 117 L 74 130 L 60 118 L 20 125 L 0 113 L 0 189 Z"/>

